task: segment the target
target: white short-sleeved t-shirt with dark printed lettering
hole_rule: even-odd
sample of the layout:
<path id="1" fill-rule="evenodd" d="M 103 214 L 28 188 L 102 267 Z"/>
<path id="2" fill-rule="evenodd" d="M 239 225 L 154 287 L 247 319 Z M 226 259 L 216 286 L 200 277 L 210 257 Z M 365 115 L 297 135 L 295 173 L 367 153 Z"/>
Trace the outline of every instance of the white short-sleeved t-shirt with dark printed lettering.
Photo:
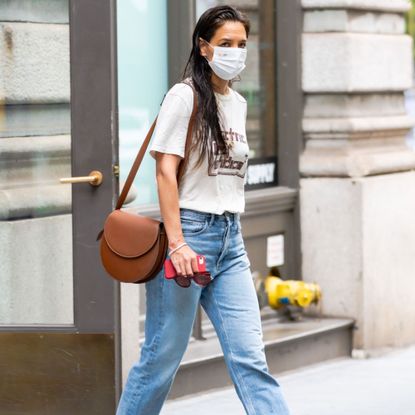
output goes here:
<path id="1" fill-rule="evenodd" d="M 224 211 L 245 210 L 244 181 L 248 164 L 249 146 L 245 124 L 246 100 L 232 88 L 226 95 L 215 93 L 221 112 L 223 135 L 230 148 L 218 151 L 212 142 L 214 164 L 208 169 L 207 155 L 196 169 L 199 155 L 192 151 L 179 188 L 179 206 L 201 212 L 222 214 Z M 193 108 L 193 90 L 184 83 L 175 84 L 161 105 L 150 145 L 155 152 L 184 157 L 187 127 Z M 193 139 L 195 139 L 193 132 Z"/>

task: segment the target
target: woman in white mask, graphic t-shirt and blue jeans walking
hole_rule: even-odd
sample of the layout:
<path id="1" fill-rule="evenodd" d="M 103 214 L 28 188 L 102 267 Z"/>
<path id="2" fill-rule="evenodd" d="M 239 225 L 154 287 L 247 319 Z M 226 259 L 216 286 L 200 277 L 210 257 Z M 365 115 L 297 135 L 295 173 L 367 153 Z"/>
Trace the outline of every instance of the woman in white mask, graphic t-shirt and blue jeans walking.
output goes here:
<path id="1" fill-rule="evenodd" d="M 160 211 L 179 280 L 164 271 L 146 283 L 145 342 L 131 368 L 117 415 L 157 415 L 187 348 L 198 304 L 212 321 L 229 375 L 248 415 L 287 415 L 269 373 L 258 301 L 241 234 L 248 161 L 247 103 L 231 88 L 245 67 L 249 21 L 237 9 L 207 10 L 193 33 L 184 80 L 166 94 L 150 153 Z M 177 170 L 196 93 L 192 147 L 180 186 Z M 204 255 L 210 281 L 192 278 Z"/>

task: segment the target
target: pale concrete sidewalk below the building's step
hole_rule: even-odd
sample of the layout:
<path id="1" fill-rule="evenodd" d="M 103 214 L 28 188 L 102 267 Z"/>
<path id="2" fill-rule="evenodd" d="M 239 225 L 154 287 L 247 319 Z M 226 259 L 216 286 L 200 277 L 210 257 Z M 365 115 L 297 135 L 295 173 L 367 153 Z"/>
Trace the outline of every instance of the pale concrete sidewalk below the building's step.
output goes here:
<path id="1" fill-rule="evenodd" d="M 292 415 L 414 415 L 415 346 L 276 376 Z M 161 415 L 244 415 L 233 388 L 167 401 Z M 266 414 L 261 414 L 266 415 Z"/>

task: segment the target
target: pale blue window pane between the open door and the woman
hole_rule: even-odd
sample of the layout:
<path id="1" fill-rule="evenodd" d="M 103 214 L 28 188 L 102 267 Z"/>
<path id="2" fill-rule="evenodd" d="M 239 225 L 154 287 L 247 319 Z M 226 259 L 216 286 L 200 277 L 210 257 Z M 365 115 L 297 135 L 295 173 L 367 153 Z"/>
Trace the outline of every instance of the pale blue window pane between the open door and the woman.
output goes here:
<path id="1" fill-rule="evenodd" d="M 120 185 L 122 186 L 168 89 L 167 4 L 117 3 Z M 128 207 L 157 203 L 155 163 L 145 155 Z"/>

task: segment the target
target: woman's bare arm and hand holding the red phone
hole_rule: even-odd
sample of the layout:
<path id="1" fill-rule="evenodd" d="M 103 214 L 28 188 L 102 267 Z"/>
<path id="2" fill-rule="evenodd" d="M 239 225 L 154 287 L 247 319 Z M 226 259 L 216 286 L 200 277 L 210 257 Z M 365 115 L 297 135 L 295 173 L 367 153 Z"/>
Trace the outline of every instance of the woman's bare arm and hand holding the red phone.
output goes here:
<path id="1" fill-rule="evenodd" d="M 181 158 L 175 154 L 156 152 L 157 192 L 160 213 L 163 218 L 169 249 L 174 249 L 185 242 L 180 223 L 179 191 L 177 170 Z M 198 271 L 196 253 L 185 245 L 170 257 L 179 275 L 193 275 Z"/>

